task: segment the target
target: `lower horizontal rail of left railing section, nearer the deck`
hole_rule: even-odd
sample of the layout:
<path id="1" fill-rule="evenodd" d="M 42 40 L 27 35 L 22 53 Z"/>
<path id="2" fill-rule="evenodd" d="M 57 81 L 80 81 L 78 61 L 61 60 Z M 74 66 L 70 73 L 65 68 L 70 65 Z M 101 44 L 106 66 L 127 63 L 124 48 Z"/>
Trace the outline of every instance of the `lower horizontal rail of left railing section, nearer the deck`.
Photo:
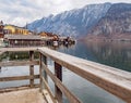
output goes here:
<path id="1" fill-rule="evenodd" d="M 39 78 L 39 75 L 34 75 L 34 76 L 15 76 L 15 77 L 0 77 L 0 81 L 26 80 L 26 79 L 33 79 L 33 78 Z"/>

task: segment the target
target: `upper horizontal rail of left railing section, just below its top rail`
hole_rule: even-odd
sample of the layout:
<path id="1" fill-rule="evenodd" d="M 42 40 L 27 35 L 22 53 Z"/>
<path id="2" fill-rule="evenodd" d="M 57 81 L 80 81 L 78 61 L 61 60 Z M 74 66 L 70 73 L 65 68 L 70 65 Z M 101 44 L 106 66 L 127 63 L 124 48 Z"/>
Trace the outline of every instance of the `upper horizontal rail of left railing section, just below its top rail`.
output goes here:
<path id="1" fill-rule="evenodd" d="M 26 66 L 26 65 L 38 65 L 39 61 L 9 61 L 0 62 L 1 67 L 5 66 Z"/>

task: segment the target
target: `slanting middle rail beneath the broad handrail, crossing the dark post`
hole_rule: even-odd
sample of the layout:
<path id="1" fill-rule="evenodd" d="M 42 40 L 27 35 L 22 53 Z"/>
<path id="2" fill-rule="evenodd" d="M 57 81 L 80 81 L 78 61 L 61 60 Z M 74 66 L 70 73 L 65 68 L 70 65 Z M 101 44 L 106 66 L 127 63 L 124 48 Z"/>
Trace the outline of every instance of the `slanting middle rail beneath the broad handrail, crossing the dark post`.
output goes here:
<path id="1" fill-rule="evenodd" d="M 44 63 L 41 63 L 44 69 L 46 70 L 46 73 L 50 76 L 50 78 L 53 80 L 53 82 L 56 83 L 56 86 L 66 94 L 66 96 L 69 99 L 70 103 L 81 103 L 81 101 L 75 98 L 73 95 L 73 93 L 70 92 L 70 90 L 68 90 L 66 88 L 66 86 L 62 85 L 62 82 L 46 67 L 46 65 Z"/>

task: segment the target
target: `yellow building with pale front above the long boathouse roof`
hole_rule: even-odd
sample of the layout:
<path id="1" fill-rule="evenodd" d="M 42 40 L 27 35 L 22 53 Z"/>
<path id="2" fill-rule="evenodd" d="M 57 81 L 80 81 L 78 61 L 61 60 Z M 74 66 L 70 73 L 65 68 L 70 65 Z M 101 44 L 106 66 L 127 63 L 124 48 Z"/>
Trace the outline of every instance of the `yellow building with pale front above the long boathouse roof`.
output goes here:
<path id="1" fill-rule="evenodd" d="M 12 34 L 12 35 L 28 35 L 28 29 L 24 27 L 17 27 L 14 25 L 5 25 L 4 31 L 5 34 Z"/>

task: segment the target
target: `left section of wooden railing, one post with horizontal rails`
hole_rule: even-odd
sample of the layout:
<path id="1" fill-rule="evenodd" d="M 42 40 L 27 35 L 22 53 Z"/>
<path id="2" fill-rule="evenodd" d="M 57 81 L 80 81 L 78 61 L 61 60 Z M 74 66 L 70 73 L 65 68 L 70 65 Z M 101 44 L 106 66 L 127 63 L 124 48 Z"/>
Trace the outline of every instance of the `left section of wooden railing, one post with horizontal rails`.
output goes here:
<path id="1" fill-rule="evenodd" d="M 39 75 L 34 75 L 34 65 L 39 65 L 39 61 L 34 60 L 34 49 L 4 49 L 2 51 L 28 51 L 29 53 L 29 61 L 5 61 L 0 62 L 0 67 L 8 67 L 8 66 L 29 66 L 29 75 L 28 76 L 11 76 L 11 77 L 0 77 L 0 81 L 15 81 L 15 80 L 27 80 L 29 79 L 29 85 L 26 87 L 38 87 L 38 85 L 34 83 L 34 79 L 39 79 Z M 24 87 L 24 86 L 23 86 Z M 2 91 L 2 90 L 1 90 Z"/>

